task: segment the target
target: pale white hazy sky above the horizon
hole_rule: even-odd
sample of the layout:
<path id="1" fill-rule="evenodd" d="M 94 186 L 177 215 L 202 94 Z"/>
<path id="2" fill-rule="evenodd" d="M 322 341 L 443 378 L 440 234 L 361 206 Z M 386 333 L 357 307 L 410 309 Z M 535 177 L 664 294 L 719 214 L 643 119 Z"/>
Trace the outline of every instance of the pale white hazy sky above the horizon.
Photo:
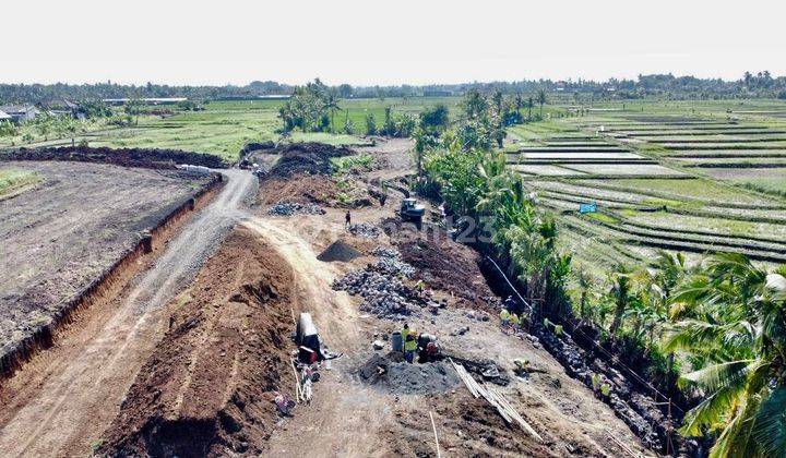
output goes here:
<path id="1" fill-rule="evenodd" d="M 786 75 L 785 13 L 783 0 L 10 1 L 0 83 L 738 80 Z"/>

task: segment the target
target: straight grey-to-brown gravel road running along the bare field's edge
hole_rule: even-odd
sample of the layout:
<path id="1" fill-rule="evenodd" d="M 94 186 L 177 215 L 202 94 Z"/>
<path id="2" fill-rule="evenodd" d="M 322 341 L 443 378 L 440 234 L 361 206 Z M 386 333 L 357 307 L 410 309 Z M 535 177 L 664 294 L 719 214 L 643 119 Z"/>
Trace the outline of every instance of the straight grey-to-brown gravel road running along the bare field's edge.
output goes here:
<path id="1" fill-rule="evenodd" d="M 0 413 L 4 456 L 72 456 L 117 414 L 130 384 L 163 332 L 163 305 L 187 286 L 223 236 L 242 218 L 257 179 L 238 170 L 215 201 L 169 242 L 155 265 L 132 280 L 102 316 L 66 334 L 56 348 L 8 381 Z"/>

